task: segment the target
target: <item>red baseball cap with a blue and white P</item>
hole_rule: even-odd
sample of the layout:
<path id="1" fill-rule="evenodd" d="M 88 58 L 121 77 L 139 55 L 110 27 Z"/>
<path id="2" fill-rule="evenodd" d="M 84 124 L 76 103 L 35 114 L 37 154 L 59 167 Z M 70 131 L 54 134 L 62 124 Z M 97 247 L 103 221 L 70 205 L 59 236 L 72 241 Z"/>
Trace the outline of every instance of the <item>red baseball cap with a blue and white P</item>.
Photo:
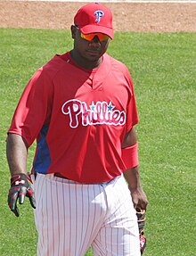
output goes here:
<path id="1" fill-rule="evenodd" d="M 112 13 L 102 4 L 86 4 L 82 6 L 74 17 L 74 24 L 83 34 L 102 33 L 114 37 L 112 27 Z"/>

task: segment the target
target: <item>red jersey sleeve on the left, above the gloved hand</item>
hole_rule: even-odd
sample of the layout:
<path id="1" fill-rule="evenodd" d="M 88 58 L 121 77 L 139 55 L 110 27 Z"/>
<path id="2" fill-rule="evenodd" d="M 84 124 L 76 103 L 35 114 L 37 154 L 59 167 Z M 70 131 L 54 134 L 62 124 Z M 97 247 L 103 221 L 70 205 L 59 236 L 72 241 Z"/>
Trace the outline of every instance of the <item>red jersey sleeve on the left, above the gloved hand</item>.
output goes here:
<path id="1" fill-rule="evenodd" d="M 29 80 L 14 112 L 9 133 L 18 134 L 32 145 L 43 125 L 49 123 L 52 109 L 52 82 L 43 72 L 37 70 Z"/>

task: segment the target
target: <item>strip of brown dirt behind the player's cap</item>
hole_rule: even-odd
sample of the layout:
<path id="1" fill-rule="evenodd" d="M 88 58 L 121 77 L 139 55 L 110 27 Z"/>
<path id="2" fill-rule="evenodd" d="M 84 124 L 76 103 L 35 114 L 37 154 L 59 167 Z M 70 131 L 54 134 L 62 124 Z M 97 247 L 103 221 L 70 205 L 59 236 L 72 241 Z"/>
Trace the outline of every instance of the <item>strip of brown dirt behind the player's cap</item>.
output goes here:
<path id="1" fill-rule="evenodd" d="M 86 3 L 0 0 L 1 28 L 69 29 Z M 117 31 L 195 32 L 196 4 L 104 3 Z"/>

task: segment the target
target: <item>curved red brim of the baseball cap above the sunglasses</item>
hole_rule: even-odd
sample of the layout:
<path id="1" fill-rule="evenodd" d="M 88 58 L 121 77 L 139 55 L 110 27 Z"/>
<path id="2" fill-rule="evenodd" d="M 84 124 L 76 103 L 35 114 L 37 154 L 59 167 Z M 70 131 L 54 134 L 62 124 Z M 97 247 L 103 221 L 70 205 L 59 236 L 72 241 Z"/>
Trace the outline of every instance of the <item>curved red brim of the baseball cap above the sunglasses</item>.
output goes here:
<path id="1" fill-rule="evenodd" d="M 86 25 L 82 28 L 79 28 L 83 34 L 91 34 L 91 33 L 102 33 L 109 36 L 111 39 L 114 38 L 113 29 L 98 26 L 98 25 Z"/>

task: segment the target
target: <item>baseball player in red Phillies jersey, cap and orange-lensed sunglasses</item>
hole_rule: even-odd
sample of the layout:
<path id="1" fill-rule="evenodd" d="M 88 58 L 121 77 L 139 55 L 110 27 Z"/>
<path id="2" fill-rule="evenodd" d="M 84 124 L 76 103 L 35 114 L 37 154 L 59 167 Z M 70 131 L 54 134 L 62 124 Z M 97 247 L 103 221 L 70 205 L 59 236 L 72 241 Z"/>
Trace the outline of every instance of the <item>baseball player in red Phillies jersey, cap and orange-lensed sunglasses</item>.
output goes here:
<path id="1" fill-rule="evenodd" d="M 7 138 L 8 203 L 28 196 L 36 208 L 37 255 L 140 255 L 135 209 L 145 210 L 140 184 L 138 122 L 127 67 L 105 54 L 112 14 L 82 6 L 71 26 L 73 49 L 56 55 L 29 80 Z M 37 139 L 29 186 L 28 148 Z M 124 174 L 124 175 L 122 175 Z M 127 180 L 125 180 L 125 178 Z"/>

